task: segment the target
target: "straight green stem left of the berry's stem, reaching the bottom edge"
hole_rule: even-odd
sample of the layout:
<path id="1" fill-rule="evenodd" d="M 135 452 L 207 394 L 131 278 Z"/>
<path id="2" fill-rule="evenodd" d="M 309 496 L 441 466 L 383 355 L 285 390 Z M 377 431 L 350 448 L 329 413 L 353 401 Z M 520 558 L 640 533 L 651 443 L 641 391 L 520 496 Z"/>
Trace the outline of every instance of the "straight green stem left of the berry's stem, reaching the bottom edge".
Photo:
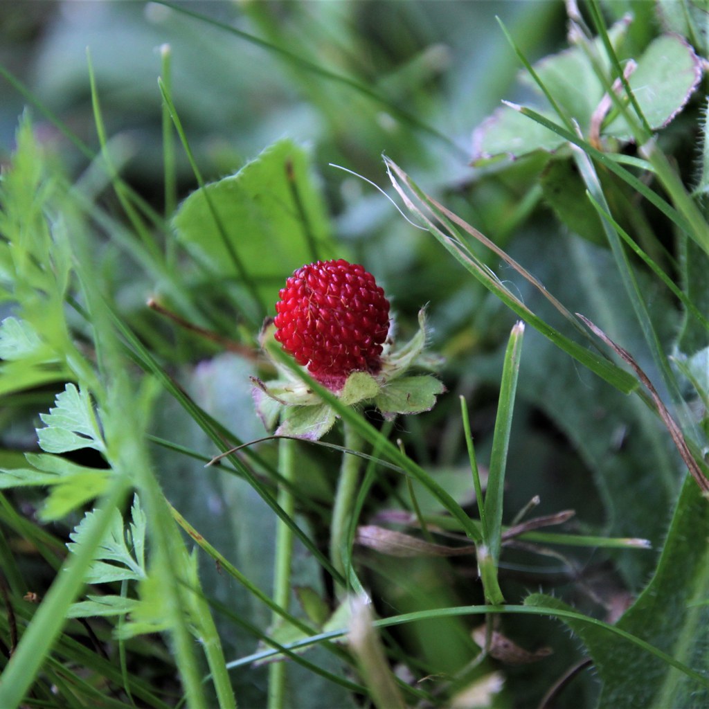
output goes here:
<path id="1" fill-rule="evenodd" d="M 279 473 L 286 481 L 294 478 L 295 441 L 281 438 L 278 449 Z M 279 506 L 289 517 L 295 511 L 295 499 L 289 488 L 281 486 L 278 491 Z M 276 527 L 276 562 L 274 566 L 273 600 L 284 610 L 288 610 L 291 601 L 291 559 L 293 557 L 293 530 L 282 520 Z M 273 614 L 273 625 L 281 623 L 278 613 Z M 274 662 L 269 666 L 268 709 L 283 709 L 286 698 L 286 663 Z"/>

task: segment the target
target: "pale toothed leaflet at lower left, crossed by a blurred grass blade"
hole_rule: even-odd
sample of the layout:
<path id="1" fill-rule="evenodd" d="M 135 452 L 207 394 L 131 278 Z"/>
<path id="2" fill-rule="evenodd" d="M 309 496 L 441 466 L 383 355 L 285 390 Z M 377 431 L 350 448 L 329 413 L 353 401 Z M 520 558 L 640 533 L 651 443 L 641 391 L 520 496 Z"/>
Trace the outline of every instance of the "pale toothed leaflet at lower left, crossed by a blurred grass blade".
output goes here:
<path id="1" fill-rule="evenodd" d="M 140 508 L 136 495 L 133 499 L 132 522 L 128 527 L 128 535 L 123 525 L 123 517 L 118 510 L 111 513 L 111 523 L 106 536 L 94 555 L 94 563 L 89 567 L 86 582 L 102 584 L 108 581 L 140 581 L 145 579 L 145 515 Z M 72 542 L 67 544 L 69 552 L 76 553 L 84 541 L 86 530 L 91 527 L 94 512 L 86 513 L 84 519 L 69 535 Z M 131 553 L 128 549 L 129 537 Z M 107 562 L 113 562 L 111 564 Z"/>

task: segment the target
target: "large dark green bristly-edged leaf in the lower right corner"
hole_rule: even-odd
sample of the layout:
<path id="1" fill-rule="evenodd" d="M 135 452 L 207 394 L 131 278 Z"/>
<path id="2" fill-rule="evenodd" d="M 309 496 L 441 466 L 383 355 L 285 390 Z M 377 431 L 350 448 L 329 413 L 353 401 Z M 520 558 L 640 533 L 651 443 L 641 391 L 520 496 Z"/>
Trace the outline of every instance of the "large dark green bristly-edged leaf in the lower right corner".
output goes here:
<path id="1" fill-rule="evenodd" d="M 705 672 L 709 606 L 709 505 L 691 476 L 686 477 L 666 544 L 652 581 L 618 621 L 618 627 L 699 672 Z M 561 601 L 534 594 L 525 605 L 565 608 Z M 602 627 L 563 618 L 588 648 L 603 682 L 601 709 L 705 706 L 709 688 L 669 666 L 662 657 L 620 642 Z"/>

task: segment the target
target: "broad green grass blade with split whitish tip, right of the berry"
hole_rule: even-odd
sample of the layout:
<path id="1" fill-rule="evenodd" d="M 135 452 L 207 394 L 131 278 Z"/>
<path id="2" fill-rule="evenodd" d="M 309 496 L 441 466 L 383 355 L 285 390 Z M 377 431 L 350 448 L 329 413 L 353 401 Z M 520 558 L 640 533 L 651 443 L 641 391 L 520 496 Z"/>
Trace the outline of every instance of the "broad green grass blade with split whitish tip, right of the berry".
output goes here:
<path id="1" fill-rule="evenodd" d="M 419 216 L 425 222 L 430 232 L 445 247 L 445 249 L 450 252 L 454 258 L 462 264 L 465 269 L 467 269 L 467 271 L 473 274 L 473 276 L 476 277 L 476 279 L 478 279 L 481 284 L 486 287 L 486 289 L 498 296 L 498 298 L 500 298 L 501 301 L 503 301 L 503 303 L 505 303 L 505 305 L 520 318 L 525 320 L 527 323 L 532 325 L 533 328 L 542 333 L 542 335 L 545 335 L 545 337 L 554 342 L 554 345 L 557 345 L 557 347 L 561 350 L 564 350 L 564 352 L 570 354 L 571 357 L 574 357 L 574 359 L 583 364 L 584 367 L 590 369 L 591 372 L 598 374 L 598 376 L 607 381 L 608 384 L 615 386 L 616 389 L 623 391 L 623 393 L 630 393 L 634 389 L 637 389 L 638 382 L 630 374 L 625 372 L 623 369 L 620 369 L 620 367 L 617 367 L 608 359 L 587 350 L 585 347 L 581 347 L 581 345 L 574 342 L 574 340 L 570 340 L 569 337 L 562 335 L 562 333 L 559 333 L 558 330 L 552 328 L 552 326 L 546 323 L 545 320 L 542 320 L 542 318 L 527 308 L 527 306 L 525 306 L 525 304 L 520 301 L 517 296 L 511 293 L 511 291 L 501 283 L 500 279 L 498 279 L 495 274 L 493 274 L 484 264 L 481 264 L 479 259 L 476 259 L 470 250 L 467 249 L 467 247 L 465 247 L 465 245 L 461 242 L 457 230 L 455 230 L 450 221 L 450 217 L 455 216 L 452 215 L 450 211 L 447 211 L 444 207 L 442 207 L 442 205 L 439 205 L 435 200 L 431 199 L 427 194 L 420 191 L 411 178 L 408 177 L 408 175 L 403 172 L 403 170 L 398 167 L 396 163 L 386 157 L 384 158 L 384 162 L 386 163 L 389 176 L 391 177 L 391 182 L 396 191 L 398 191 L 401 195 L 401 198 L 406 203 L 406 206 L 408 206 L 408 208 L 415 215 Z M 408 192 L 403 188 L 402 184 L 398 182 L 398 179 L 393 177 L 392 172 L 395 172 L 398 179 L 401 179 L 401 183 L 406 185 Z M 445 228 L 447 233 L 444 233 L 440 228 L 438 228 L 432 219 L 427 216 L 427 213 L 430 214 L 433 219 L 437 220 Z M 460 218 L 455 218 L 456 223 L 465 224 Z M 466 230 L 469 233 L 476 232 L 476 230 L 469 225 L 466 225 Z M 511 262 L 513 267 L 515 267 L 518 272 L 526 273 L 524 269 L 519 266 L 519 264 L 513 262 L 507 255 L 505 255 L 505 259 L 506 261 Z M 553 296 L 548 294 L 542 284 L 531 277 L 531 275 L 530 278 L 532 285 L 539 289 L 546 298 L 553 298 Z M 554 301 L 556 301 L 555 298 L 552 302 Z M 556 302 L 558 303 L 558 301 Z M 561 303 L 559 303 L 559 306 L 561 306 Z M 566 308 L 563 306 L 561 306 L 561 308 L 561 312 L 564 313 L 565 317 L 567 313 L 570 315 Z"/>

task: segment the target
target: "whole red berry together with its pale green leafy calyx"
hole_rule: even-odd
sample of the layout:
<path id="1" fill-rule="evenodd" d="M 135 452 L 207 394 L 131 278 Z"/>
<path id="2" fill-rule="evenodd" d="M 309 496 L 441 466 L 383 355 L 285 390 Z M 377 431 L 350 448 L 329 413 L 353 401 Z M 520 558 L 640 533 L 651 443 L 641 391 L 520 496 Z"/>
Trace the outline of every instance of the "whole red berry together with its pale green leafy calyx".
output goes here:
<path id="1" fill-rule="evenodd" d="M 404 376 L 411 367 L 432 369 L 440 363 L 423 352 L 423 309 L 418 333 L 394 350 L 389 301 L 361 266 L 343 259 L 308 264 L 294 272 L 279 295 L 277 316 L 267 318 L 259 335 L 279 376 L 267 382 L 252 377 L 256 408 L 268 430 L 280 421 L 277 435 L 318 440 L 337 419 L 306 376 L 284 362 L 279 343 L 342 404 L 376 406 L 384 418 L 429 411 L 445 391 L 430 374 Z"/>

